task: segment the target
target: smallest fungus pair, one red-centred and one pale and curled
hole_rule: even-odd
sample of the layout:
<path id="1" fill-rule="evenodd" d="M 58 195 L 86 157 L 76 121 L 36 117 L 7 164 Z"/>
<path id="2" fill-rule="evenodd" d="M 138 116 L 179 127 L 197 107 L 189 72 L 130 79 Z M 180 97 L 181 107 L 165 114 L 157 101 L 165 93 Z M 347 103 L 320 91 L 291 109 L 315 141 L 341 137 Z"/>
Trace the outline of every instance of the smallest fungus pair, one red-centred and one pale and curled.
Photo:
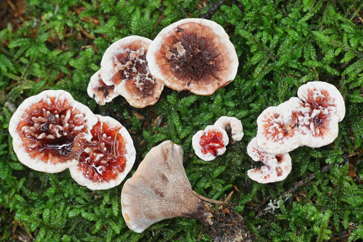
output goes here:
<path id="1" fill-rule="evenodd" d="M 226 151 L 229 139 L 226 126 L 231 127 L 232 139 L 240 141 L 243 138 L 243 127 L 235 117 L 221 116 L 213 125 L 208 125 L 193 135 L 192 145 L 195 154 L 203 160 L 214 160 Z"/>

